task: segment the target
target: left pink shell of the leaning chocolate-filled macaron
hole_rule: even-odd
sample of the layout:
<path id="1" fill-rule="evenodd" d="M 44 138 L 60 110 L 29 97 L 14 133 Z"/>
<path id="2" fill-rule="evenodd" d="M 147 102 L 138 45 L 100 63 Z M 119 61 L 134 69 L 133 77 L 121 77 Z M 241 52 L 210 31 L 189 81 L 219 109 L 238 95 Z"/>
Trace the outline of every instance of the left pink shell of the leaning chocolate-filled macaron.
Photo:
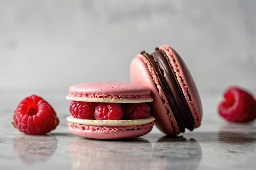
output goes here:
<path id="1" fill-rule="evenodd" d="M 153 106 L 151 107 L 151 114 L 155 117 L 154 123 L 157 128 L 168 135 L 179 134 L 180 129 L 177 121 L 168 105 L 167 98 L 162 91 L 157 76 L 146 57 L 139 54 L 132 60 L 130 77 L 132 83 L 146 85 L 150 88 L 150 95 L 154 99 L 150 103 Z"/>

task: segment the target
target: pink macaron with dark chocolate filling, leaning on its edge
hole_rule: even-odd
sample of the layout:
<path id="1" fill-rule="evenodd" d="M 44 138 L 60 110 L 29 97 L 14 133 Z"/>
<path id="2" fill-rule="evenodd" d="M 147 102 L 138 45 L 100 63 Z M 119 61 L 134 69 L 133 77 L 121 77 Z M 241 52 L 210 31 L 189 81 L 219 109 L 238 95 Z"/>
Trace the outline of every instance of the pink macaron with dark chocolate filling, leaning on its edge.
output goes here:
<path id="1" fill-rule="evenodd" d="M 150 55 L 138 54 L 130 65 L 131 82 L 150 88 L 151 114 L 157 128 L 177 135 L 201 124 L 202 104 L 193 78 L 178 53 L 168 45 Z"/>

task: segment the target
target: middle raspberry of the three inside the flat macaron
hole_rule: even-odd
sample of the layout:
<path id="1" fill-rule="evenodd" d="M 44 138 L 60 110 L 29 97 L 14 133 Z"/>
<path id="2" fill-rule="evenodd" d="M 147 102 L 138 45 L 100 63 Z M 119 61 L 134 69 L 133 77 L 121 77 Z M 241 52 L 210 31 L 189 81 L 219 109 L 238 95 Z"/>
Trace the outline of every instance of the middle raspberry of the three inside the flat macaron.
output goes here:
<path id="1" fill-rule="evenodd" d="M 95 107 L 96 120 L 121 120 L 124 110 L 118 103 L 99 103 Z"/>

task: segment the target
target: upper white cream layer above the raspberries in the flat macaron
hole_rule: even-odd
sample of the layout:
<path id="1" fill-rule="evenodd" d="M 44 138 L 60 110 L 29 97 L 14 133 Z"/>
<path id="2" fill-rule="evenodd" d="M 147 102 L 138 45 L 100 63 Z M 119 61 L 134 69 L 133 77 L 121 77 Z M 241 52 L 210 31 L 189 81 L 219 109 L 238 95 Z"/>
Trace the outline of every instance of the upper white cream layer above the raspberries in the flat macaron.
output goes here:
<path id="1" fill-rule="evenodd" d="M 146 103 L 152 102 L 152 98 L 148 99 L 108 99 L 108 98 L 90 98 L 90 97 L 66 97 L 67 100 L 80 102 L 99 102 L 99 103 Z"/>

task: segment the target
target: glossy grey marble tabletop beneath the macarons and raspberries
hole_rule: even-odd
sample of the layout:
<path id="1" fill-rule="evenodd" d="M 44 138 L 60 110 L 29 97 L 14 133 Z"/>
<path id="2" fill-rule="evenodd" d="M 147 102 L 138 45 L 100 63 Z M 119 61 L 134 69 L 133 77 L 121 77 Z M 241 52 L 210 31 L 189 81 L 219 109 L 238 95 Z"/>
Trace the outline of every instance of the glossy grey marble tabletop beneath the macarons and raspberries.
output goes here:
<path id="1" fill-rule="evenodd" d="M 11 125 L 12 115 L 25 96 L 0 92 L 0 170 L 254 170 L 256 166 L 256 123 L 229 124 L 221 120 L 215 113 L 216 106 L 210 103 L 216 100 L 213 95 L 202 95 L 209 101 L 204 102 L 207 119 L 193 132 L 167 137 L 154 128 L 134 139 L 95 140 L 68 131 L 65 118 L 69 102 L 58 93 L 47 99 L 56 106 L 60 119 L 56 130 L 46 136 L 18 132 Z"/>

